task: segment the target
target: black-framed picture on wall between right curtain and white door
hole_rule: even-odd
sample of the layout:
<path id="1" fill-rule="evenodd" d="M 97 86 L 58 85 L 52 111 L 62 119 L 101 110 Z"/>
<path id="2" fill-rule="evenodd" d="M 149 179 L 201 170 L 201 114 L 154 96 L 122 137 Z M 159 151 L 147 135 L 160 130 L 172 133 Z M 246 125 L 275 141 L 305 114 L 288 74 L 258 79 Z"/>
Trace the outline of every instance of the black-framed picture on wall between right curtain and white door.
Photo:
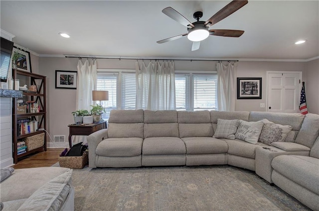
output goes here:
<path id="1" fill-rule="evenodd" d="M 237 99 L 262 99 L 262 78 L 237 78 Z"/>

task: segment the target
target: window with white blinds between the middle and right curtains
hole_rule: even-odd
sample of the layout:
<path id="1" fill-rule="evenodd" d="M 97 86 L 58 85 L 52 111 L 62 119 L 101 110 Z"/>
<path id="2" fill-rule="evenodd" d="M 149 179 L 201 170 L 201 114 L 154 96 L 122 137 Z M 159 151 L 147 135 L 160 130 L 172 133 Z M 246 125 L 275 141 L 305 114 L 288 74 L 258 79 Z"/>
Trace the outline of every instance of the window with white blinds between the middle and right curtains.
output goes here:
<path id="1" fill-rule="evenodd" d="M 175 74 L 176 110 L 217 110 L 216 74 Z"/>

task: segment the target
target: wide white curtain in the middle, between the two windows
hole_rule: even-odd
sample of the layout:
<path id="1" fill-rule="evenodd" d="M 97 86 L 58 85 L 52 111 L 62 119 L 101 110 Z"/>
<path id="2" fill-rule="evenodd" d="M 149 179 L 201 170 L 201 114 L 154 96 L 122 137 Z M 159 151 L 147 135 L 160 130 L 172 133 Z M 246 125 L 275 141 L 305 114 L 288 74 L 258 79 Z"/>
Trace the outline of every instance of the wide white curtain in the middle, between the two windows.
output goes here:
<path id="1" fill-rule="evenodd" d="M 175 109 L 174 62 L 136 62 L 136 109 Z"/>

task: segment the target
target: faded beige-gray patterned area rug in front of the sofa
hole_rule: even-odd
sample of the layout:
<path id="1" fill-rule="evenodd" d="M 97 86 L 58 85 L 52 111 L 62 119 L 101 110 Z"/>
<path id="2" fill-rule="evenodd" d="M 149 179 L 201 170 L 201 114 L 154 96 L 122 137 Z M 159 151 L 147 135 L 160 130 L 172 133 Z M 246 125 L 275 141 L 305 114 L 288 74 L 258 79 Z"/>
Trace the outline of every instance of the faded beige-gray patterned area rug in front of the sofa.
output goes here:
<path id="1" fill-rule="evenodd" d="M 58 166 L 58 165 L 55 165 Z M 75 211 L 309 211 L 232 166 L 73 170 Z"/>

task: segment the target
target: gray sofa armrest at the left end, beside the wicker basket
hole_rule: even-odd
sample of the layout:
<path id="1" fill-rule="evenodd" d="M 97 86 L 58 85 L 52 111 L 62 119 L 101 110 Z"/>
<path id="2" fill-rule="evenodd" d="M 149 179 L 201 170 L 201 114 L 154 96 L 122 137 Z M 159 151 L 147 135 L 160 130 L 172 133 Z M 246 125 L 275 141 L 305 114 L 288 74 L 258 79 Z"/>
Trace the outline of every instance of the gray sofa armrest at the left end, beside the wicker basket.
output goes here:
<path id="1" fill-rule="evenodd" d="M 96 168 L 95 158 L 96 153 L 95 150 L 98 144 L 104 139 L 108 138 L 108 129 L 98 130 L 88 136 L 88 147 L 89 147 L 89 168 Z"/>

